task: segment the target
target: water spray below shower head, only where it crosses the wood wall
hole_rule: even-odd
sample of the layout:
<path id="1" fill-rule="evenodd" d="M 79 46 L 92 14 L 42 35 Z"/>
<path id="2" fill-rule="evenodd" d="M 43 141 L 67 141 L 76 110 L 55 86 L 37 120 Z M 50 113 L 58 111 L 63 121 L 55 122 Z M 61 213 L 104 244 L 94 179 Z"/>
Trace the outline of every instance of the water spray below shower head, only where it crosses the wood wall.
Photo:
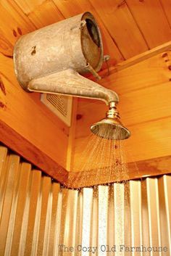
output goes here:
<path id="1" fill-rule="evenodd" d="M 120 127 L 115 130 L 105 125 L 98 134 L 91 134 L 88 144 L 81 154 L 75 167 L 77 180 L 81 186 L 126 182 L 129 179 L 128 165 L 125 157 L 124 142 L 120 139 Z M 112 133 L 117 133 L 117 140 L 111 139 Z M 72 181 L 71 181 L 72 183 Z"/>

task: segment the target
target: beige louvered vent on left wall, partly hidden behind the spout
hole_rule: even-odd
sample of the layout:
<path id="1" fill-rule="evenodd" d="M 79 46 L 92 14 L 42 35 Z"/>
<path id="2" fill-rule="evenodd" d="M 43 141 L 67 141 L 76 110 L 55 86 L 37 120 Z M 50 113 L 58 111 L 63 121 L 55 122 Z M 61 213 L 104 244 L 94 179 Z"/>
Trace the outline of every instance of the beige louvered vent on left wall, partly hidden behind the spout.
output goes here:
<path id="1" fill-rule="evenodd" d="M 41 102 L 57 115 L 66 125 L 71 125 L 72 96 L 41 94 Z"/>

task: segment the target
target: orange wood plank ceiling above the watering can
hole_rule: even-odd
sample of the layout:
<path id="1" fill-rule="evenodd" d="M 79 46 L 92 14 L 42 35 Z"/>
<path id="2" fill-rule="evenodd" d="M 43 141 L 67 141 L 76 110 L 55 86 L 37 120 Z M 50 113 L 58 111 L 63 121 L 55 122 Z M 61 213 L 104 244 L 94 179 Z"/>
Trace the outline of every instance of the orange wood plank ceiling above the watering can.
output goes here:
<path id="1" fill-rule="evenodd" d="M 170 0 L 1 0 L 0 51 L 12 56 L 22 34 L 86 11 L 99 22 L 111 65 L 171 39 Z"/>

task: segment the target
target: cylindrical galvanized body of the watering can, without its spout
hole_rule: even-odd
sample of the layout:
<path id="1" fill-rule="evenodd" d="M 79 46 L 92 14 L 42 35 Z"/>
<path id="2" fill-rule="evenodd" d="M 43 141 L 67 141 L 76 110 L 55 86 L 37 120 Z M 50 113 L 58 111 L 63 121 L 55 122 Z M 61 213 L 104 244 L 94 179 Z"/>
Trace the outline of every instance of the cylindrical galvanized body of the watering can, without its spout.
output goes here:
<path id="1" fill-rule="evenodd" d="M 90 12 L 22 36 L 14 46 L 14 70 L 20 85 L 72 69 L 98 72 L 103 62 L 101 33 Z"/>

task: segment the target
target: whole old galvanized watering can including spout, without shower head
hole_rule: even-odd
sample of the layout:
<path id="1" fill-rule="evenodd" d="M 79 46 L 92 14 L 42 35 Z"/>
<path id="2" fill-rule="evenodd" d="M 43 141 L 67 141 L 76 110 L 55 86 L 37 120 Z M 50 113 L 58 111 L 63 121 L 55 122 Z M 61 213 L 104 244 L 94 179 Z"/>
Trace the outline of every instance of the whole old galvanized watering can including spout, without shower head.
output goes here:
<path id="1" fill-rule="evenodd" d="M 118 102 L 114 91 L 82 76 L 99 79 L 102 62 L 101 33 L 89 12 L 22 36 L 14 47 L 14 70 L 26 91 Z"/>

